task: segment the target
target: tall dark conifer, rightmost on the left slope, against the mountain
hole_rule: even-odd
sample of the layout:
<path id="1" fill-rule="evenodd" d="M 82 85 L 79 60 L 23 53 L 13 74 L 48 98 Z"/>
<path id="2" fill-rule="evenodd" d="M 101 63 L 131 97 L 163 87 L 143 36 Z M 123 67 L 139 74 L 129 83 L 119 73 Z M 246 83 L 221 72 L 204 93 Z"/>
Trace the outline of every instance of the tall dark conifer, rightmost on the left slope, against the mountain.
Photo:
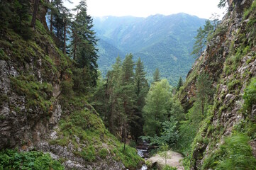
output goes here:
<path id="1" fill-rule="evenodd" d="M 72 41 L 70 43 L 71 55 L 79 68 L 87 67 L 91 74 L 91 86 L 96 86 L 98 55 L 96 54 L 96 40 L 93 28 L 93 20 L 87 15 L 86 1 L 80 1 L 73 11 L 77 12 L 72 23 Z"/>

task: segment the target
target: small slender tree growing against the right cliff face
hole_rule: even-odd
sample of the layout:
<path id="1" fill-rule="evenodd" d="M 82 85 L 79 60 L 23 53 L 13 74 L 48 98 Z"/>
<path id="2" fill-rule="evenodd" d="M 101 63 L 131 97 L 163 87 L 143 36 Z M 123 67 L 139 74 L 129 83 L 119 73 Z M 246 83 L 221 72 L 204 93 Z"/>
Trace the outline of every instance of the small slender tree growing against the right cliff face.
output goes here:
<path id="1" fill-rule="evenodd" d="M 196 98 L 201 103 L 201 113 L 204 115 L 204 106 L 208 101 L 208 98 L 213 94 L 212 80 L 209 79 L 208 74 L 201 73 L 196 80 Z"/>

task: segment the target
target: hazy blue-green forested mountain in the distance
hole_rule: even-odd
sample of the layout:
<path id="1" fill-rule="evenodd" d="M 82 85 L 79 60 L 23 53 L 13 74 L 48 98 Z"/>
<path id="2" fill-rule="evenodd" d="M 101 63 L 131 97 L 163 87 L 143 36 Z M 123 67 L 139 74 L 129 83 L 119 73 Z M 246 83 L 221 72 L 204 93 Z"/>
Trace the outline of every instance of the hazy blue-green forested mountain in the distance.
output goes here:
<path id="1" fill-rule="evenodd" d="M 99 69 L 103 74 L 119 55 L 132 53 L 141 57 L 148 79 L 158 67 L 163 78 L 176 85 L 194 63 L 190 56 L 196 30 L 205 19 L 178 13 L 148 18 L 106 16 L 94 18 L 94 30 L 99 40 Z"/>

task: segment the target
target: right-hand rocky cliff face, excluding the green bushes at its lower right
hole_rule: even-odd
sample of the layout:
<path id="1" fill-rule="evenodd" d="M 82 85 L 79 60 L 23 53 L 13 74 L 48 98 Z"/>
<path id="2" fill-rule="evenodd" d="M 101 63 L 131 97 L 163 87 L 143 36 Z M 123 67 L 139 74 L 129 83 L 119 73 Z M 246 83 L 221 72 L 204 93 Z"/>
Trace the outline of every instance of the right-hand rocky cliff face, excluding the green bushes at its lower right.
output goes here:
<path id="1" fill-rule="evenodd" d="M 213 107 L 194 140 L 191 169 L 215 167 L 209 159 L 216 160 L 216 150 L 225 143 L 225 139 L 237 130 L 236 127 L 251 123 L 255 115 L 254 106 L 250 113 L 243 111 L 243 94 L 256 75 L 256 3 L 234 0 L 228 4 L 228 13 L 209 38 L 204 54 L 196 60 L 179 94 L 184 107 L 190 108 L 196 77 L 201 72 L 210 75 L 217 89 Z M 250 144 L 253 146 L 253 142 Z"/>

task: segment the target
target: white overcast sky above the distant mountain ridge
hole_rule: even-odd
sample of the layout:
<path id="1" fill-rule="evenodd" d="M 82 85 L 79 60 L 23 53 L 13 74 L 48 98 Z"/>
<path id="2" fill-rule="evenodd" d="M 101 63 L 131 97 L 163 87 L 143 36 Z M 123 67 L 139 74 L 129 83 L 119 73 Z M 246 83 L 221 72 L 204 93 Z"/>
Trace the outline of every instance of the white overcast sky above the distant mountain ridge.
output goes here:
<path id="1" fill-rule="evenodd" d="M 79 0 L 65 2 L 72 8 Z M 91 16 L 140 16 L 147 17 L 157 13 L 188 13 L 199 18 L 210 18 L 212 13 L 223 13 L 217 5 L 220 0 L 87 0 Z"/>

